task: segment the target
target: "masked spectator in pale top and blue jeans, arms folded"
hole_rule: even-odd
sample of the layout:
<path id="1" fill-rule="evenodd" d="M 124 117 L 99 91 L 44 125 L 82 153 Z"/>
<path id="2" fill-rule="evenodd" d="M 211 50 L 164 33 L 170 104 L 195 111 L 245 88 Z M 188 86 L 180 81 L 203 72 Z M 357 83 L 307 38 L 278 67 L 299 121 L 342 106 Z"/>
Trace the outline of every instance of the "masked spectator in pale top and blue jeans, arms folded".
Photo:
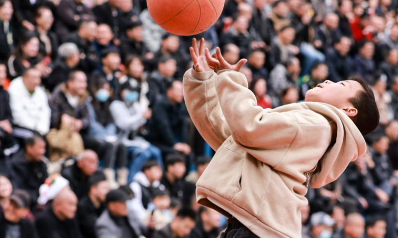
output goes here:
<path id="1" fill-rule="evenodd" d="M 140 136 L 144 130 L 143 125 L 152 117 L 152 111 L 140 102 L 140 91 L 138 84 L 126 81 L 121 85 L 120 100 L 113 101 L 109 106 L 115 124 L 120 130 L 119 138 L 128 148 L 128 181 L 141 171 L 143 163 L 149 159 L 156 159 L 163 167 L 161 151 Z"/>

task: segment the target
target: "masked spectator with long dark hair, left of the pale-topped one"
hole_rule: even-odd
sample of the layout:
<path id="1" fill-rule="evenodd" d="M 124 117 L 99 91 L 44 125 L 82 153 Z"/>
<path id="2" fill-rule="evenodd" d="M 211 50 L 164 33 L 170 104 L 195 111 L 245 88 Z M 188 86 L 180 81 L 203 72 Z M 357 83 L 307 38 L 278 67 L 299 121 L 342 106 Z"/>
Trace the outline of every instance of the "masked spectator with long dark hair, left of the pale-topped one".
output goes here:
<path id="1" fill-rule="evenodd" d="M 90 82 L 90 91 L 93 97 L 88 106 L 90 114 L 89 133 L 91 136 L 113 144 L 114 160 L 105 167 L 110 169 L 116 167 L 117 183 L 125 185 L 128 176 L 127 149 L 118 138 L 116 124 L 109 110 L 111 103 L 110 84 L 105 77 L 97 77 Z M 110 173 L 106 171 L 104 172 Z M 114 176 L 109 175 L 108 177 L 113 178 Z"/>

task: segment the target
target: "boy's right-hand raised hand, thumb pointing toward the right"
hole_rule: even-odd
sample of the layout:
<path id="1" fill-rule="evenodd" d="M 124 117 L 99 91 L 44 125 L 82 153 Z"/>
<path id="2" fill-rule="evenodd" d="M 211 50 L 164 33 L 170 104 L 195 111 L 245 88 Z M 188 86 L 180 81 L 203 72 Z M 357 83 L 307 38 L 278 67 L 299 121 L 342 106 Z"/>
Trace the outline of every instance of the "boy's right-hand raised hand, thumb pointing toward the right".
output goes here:
<path id="1" fill-rule="evenodd" d="M 230 69 L 230 70 L 239 72 L 240 69 L 242 68 L 242 66 L 247 62 L 246 59 L 241 59 L 234 65 L 229 64 L 222 57 L 220 48 L 218 48 L 218 47 L 215 48 L 215 54 L 213 56 L 210 56 L 210 52 L 206 48 L 205 55 L 206 55 L 206 60 L 207 60 L 208 66 L 215 71 L 222 70 L 222 69 Z"/>

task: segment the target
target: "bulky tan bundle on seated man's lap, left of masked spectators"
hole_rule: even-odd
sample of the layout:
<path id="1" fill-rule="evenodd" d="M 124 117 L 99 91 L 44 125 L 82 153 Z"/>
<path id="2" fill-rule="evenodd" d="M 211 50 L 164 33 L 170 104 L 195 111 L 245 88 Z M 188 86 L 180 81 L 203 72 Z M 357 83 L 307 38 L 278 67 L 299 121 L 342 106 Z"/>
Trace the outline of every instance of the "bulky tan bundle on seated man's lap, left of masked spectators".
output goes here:
<path id="1" fill-rule="evenodd" d="M 49 159 L 51 162 L 59 162 L 60 159 L 76 157 L 84 150 L 82 136 L 77 131 L 78 122 L 68 114 L 61 116 L 59 128 L 52 128 L 46 135 L 49 147 Z M 58 169 L 57 172 L 60 172 Z"/>

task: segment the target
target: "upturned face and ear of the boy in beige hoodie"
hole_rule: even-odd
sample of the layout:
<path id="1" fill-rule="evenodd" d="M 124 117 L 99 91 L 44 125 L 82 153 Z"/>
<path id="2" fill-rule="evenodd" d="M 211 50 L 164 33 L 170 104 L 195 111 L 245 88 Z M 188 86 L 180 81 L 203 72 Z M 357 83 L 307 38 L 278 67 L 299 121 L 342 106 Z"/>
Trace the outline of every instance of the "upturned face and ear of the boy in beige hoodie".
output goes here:
<path id="1" fill-rule="evenodd" d="M 326 80 L 307 91 L 305 102 L 327 103 L 343 110 L 348 116 L 355 117 L 358 111 L 349 99 L 354 98 L 360 90 L 363 88 L 357 81 L 346 80 L 334 83 Z"/>

